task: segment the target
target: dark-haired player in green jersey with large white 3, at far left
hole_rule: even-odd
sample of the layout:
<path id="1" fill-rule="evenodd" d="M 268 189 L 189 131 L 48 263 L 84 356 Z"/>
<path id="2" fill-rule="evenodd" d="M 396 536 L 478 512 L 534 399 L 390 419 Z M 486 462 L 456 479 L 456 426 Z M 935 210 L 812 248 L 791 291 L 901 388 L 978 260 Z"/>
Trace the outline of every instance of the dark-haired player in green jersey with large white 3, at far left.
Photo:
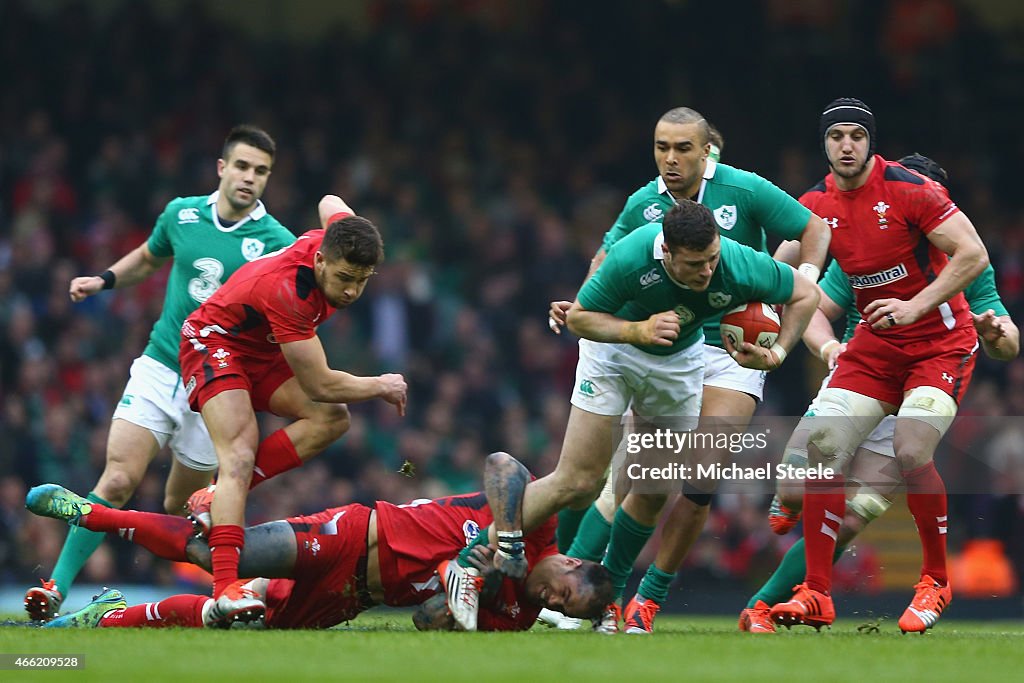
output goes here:
<path id="1" fill-rule="evenodd" d="M 224 140 L 217 160 L 216 191 L 172 200 L 150 238 L 99 275 L 71 282 L 72 301 L 146 280 L 168 261 L 171 272 L 160 318 L 150 342 L 135 359 L 111 422 L 106 462 L 88 495 L 94 503 L 120 508 L 142 480 L 150 462 L 169 446 L 171 472 L 164 507 L 183 514 L 189 494 L 210 482 L 217 456 L 203 419 L 188 409 L 178 370 L 178 344 L 185 316 L 220 288 L 242 264 L 295 242 L 295 236 L 267 213 L 260 201 L 276 147 L 254 126 L 238 126 Z M 344 424 L 325 404 L 316 420 L 340 436 Z M 73 527 L 51 578 L 26 593 L 33 620 L 48 621 L 60 607 L 75 578 L 103 535 Z"/>

